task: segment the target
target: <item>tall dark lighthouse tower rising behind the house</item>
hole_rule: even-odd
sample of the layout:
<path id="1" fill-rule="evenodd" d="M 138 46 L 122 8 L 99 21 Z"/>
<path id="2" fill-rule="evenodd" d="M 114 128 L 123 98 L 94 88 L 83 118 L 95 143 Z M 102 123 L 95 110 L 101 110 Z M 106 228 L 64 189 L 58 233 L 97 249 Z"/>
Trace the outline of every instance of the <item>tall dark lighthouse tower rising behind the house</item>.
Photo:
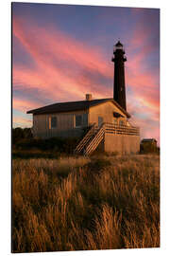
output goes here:
<path id="1" fill-rule="evenodd" d="M 125 86 L 125 65 L 127 61 L 125 56 L 125 50 L 120 41 L 113 48 L 113 58 L 114 63 L 114 94 L 113 100 L 118 102 L 119 105 L 127 110 L 126 103 L 126 86 Z"/>

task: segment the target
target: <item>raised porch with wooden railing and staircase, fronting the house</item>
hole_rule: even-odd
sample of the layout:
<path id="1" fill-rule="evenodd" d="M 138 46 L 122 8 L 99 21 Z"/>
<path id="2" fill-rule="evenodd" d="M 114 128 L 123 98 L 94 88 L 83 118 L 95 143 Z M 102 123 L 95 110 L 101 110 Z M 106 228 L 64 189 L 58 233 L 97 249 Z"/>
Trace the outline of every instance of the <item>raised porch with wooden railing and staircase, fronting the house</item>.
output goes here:
<path id="1" fill-rule="evenodd" d="M 137 153 L 140 150 L 140 129 L 107 122 L 98 127 L 93 123 L 89 132 L 76 146 L 75 154 L 91 155 L 102 142 L 105 152 Z"/>

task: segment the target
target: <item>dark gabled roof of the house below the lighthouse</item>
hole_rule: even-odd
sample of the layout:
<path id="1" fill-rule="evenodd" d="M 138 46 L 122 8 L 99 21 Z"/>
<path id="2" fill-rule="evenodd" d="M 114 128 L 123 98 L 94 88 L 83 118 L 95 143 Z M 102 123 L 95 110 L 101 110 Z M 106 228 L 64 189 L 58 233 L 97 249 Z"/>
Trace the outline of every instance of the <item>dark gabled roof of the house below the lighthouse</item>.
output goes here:
<path id="1" fill-rule="evenodd" d="M 73 112 L 73 111 L 80 111 L 80 110 L 87 110 L 90 107 L 96 106 L 98 104 L 111 101 L 115 104 L 126 116 L 130 118 L 130 115 L 124 110 L 116 101 L 113 99 L 99 99 L 99 100 L 92 100 L 92 101 L 68 101 L 68 102 L 60 102 L 55 103 L 47 106 L 43 106 L 37 109 L 32 109 L 27 111 L 27 114 L 52 114 L 52 113 L 61 113 L 61 112 Z"/>

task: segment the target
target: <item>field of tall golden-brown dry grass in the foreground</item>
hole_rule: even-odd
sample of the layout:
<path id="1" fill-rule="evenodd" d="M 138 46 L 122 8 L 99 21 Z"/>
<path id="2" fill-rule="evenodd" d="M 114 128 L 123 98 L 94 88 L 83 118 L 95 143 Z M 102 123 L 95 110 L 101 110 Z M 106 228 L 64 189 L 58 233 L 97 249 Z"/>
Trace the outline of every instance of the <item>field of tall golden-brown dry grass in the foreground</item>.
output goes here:
<path id="1" fill-rule="evenodd" d="M 13 160 L 12 251 L 160 247 L 159 160 Z"/>

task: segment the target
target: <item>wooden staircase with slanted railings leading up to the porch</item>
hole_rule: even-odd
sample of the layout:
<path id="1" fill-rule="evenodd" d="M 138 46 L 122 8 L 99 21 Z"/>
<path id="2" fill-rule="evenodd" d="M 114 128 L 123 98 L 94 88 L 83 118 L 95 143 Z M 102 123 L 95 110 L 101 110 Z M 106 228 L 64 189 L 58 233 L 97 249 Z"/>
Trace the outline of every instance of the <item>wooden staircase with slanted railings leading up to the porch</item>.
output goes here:
<path id="1" fill-rule="evenodd" d="M 90 155 L 104 139 L 104 124 L 97 127 L 94 123 L 89 132 L 83 137 L 75 149 L 75 154 Z"/>

